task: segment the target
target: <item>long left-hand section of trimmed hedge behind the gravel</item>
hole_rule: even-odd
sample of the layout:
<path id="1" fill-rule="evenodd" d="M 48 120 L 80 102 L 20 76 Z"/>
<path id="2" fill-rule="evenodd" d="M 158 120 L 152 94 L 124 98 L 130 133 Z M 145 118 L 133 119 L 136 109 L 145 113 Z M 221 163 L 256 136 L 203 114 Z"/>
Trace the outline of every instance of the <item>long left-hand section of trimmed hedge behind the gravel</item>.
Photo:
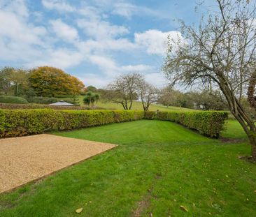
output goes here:
<path id="1" fill-rule="evenodd" d="M 0 137 L 72 130 L 88 126 L 143 119 L 143 111 L 125 110 L 0 110 Z"/>

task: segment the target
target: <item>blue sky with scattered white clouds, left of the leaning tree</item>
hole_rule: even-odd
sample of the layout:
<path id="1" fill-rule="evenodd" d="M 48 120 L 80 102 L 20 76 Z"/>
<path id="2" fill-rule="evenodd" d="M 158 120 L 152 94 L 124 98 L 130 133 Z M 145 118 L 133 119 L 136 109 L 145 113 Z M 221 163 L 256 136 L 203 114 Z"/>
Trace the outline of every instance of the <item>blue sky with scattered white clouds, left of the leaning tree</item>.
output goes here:
<path id="1" fill-rule="evenodd" d="M 0 0 L 0 68 L 53 66 L 85 86 L 138 72 L 162 87 L 166 40 L 197 24 L 192 0 Z"/>

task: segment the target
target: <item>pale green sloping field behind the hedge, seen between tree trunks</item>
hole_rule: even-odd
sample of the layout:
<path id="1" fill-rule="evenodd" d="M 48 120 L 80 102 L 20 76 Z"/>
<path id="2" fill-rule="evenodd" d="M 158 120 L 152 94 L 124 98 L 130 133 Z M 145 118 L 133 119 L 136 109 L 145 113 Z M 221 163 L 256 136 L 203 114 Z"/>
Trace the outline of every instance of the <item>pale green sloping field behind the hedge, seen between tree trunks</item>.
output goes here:
<path id="1" fill-rule="evenodd" d="M 78 98 L 79 98 L 80 105 L 84 105 L 83 96 L 78 96 Z M 105 108 L 108 110 L 111 110 L 111 109 L 123 110 L 124 109 L 121 104 L 106 102 L 104 100 L 99 100 L 97 103 L 95 103 L 95 106 L 102 107 L 102 108 Z M 143 110 L 143 106 L 142 106 L 141 102 L 134 102 L 131 109 L 132 110 Z M 194 111 L 192 109 L 185 108 L 185 107 L 175 107 L 175 106 L 166 107 L 164 105 L 159 105 L 159 104 L 150 105 L 149 110 L 150 111 L 156 111 L 156 110 L 159 110 L 159 111 L 171 111 L 171 110 L 172 111 L 173 110 L 175 110 L 175 111 Z"/>

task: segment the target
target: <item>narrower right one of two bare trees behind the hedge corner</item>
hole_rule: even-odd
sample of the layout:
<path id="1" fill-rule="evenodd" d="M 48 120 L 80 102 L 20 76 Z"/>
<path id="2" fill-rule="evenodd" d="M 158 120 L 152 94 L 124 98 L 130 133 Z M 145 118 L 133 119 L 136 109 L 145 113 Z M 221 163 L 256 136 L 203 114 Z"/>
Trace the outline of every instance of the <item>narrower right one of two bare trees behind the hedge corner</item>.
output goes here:
<path id="1" fill-rule="evenodd" d="M 157 88 L 146 82 L 143 76 L 138 77 L 136 88 L 143 106 L 143 110 L 148 111 L 150 105 L 157 101 Z"/>

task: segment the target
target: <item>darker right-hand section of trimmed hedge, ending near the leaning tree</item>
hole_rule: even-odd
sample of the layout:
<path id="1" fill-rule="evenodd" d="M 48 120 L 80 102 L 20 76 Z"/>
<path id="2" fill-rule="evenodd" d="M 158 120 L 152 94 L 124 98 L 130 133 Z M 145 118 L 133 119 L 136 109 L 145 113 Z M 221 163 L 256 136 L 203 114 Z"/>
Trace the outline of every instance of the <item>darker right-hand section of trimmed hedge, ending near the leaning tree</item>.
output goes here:
<path id="1" fill-rule="evenodd" d="M 192 130 L 197 130 L 202 135 L 219 137 L 224 128 L 227 112 L 145 112 L 145 119 L 173 121 Z"/>

